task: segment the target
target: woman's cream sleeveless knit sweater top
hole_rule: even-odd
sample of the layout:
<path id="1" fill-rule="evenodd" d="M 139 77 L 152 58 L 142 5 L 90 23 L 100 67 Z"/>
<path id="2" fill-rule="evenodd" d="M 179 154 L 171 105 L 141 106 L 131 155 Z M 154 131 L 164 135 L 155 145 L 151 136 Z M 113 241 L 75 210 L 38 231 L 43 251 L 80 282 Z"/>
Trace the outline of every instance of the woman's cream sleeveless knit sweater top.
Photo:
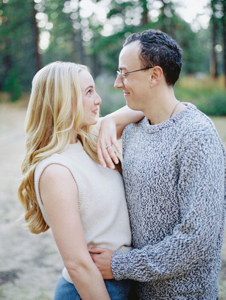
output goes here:
<path id="1" fill-rule="evenodd" d="M 35 192 L 44 220 L 50 226 L 39 193 L 39 180 L 50 164 L 67 167 L 78 187 L 80 218 L 87 247 L 104 247 L 119 253 L 131 250 L 131 230 L 124 182 L 116 170 L 103 169 L 84 151 L 81 142 L 43 159 L 35 169 Z M 66 268 L 63 276 L 72 283 Z"/>

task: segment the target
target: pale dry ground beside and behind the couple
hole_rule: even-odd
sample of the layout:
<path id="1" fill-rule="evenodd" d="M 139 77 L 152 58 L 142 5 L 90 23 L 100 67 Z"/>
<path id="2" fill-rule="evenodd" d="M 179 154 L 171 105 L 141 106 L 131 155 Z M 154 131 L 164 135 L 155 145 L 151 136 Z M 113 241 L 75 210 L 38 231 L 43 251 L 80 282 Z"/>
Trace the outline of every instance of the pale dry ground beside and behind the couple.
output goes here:
<path id="1" fill-rule="evenodd" d="M 18 221 L 23 213 L 17 199 L 24 155 L 26 108 L 0 103 L 0 300 L 50 300 L 61 277 L 62 259 L 51 230 L 34 235 Z M 226 117 L 213 118 L 226 146 Z M 226 300 L 226 237 L 219 276 L 219 300 Z"/>

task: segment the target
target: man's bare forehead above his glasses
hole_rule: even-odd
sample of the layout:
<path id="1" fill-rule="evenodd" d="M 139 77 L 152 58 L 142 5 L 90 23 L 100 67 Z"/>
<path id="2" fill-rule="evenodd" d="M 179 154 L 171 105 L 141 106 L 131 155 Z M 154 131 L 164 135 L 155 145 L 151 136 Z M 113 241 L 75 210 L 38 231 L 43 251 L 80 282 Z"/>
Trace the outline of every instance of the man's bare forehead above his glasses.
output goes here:
<path id="1" fill-rule="evenodd" d="M 140 41 L 133 41 L 122 48 L 119 54 L 119 69 L 128 68 L 131 65 L 140 66 Z"/>

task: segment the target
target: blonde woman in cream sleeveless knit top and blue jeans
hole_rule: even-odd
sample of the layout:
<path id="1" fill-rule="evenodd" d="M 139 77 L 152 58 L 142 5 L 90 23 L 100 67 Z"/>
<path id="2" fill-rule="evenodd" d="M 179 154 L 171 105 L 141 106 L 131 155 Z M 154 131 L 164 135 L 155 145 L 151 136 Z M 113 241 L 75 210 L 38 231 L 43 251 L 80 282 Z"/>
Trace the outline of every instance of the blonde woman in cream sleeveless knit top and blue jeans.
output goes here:
<path id="1" fill-rule="evenodd" d="M 95 147 L 99 104 L 86 66 L 54 62 L 32 81 L 18 195 L 30 232 L 51 226 L 62 256 L 65 268 L 54 300 L 128 299 L 130 282 L 103 280 L 87 249 L 131 250 L 120 161 L 104 170 Z M 128 107 L 120 116 L 122 111 L 125 124 L 117 127 L 118 136 L 143 117 Z"/>

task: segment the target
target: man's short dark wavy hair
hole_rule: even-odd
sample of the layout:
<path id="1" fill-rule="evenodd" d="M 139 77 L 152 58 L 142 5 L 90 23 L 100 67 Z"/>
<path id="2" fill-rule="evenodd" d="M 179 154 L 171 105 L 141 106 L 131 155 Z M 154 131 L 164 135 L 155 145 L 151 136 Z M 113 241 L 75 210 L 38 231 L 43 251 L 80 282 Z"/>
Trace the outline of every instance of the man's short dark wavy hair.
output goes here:
<path id="1" fill-rule="evenodd" d="M 140 41 L 142 67 L 161 67 L 167 85 L 174 86 L 182 68 L 182 50 L 178 44 L 166 33 L 154 29 L 133 33 L 123 47 L 133 41 Z"/>

